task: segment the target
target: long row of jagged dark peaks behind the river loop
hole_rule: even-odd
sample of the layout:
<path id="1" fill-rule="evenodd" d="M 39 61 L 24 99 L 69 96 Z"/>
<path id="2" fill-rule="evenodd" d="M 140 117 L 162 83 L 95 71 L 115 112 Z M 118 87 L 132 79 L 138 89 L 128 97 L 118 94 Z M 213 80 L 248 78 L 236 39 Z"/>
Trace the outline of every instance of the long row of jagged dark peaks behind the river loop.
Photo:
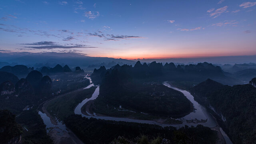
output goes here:
<path id="1" fill-rule="evenodd" d="M 117 64 L 112 68 L 106 70 L 104 66 L 101 66 L 98 70 L 94 69 L 92 74 L 92 80 L 94 83 L 100 84 L 105 78 L 106 74 L 118 71 L 118 74 L 129 76 L 130 78 L 147 79 L 147 80 L 169 80 L 169 81 L 192 81 L 202 82 L 207 78 L 213 78 L 216 80 L 231 82 L 230 78 L 224 75 L 224 72 L 219 66 L 214 66 L 207 62 L 190 64 L 190 65 L 177 65 L 174 63 L 156 63 L 141 64 L 140 61 L 132 67 L 131 65 Z"/>

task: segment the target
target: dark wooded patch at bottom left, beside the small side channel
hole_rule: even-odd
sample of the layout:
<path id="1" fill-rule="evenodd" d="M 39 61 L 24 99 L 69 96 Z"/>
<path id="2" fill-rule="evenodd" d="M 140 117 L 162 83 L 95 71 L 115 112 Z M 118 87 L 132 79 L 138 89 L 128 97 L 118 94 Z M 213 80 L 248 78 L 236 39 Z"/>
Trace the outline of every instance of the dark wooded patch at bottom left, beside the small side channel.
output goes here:
<path id="1" fill-rule="evenodd" d="M 23 144 L 52 144 L 52 139 L 46 134 L 46 125 L 36 110 L 22 112 L 16 121 L 23 127 Z"/>

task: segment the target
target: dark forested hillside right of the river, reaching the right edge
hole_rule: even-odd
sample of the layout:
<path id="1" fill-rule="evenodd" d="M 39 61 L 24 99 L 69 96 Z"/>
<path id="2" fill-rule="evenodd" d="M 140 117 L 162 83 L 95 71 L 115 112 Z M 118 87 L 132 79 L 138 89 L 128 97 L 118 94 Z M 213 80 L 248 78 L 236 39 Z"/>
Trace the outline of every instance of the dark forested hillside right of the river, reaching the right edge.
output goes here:
<path id="1" fill-rule="evenodd" d="M 235 144 L 256 142 L 256 88 L 252 84 L 227 86 L 208 79 L 190 91 L 218 116 Z"/>

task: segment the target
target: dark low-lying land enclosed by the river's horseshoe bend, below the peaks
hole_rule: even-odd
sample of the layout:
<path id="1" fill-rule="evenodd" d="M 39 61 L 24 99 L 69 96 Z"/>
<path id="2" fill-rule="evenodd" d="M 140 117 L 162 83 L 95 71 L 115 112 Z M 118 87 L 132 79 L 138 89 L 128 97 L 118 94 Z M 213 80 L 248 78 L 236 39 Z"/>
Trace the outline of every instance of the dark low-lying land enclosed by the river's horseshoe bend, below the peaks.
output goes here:
<path id="1" fill-rule="evenodd" d="M 102 102 L 115 108 L 122 106 L 127 110 L 155 116 L 179 117 L 191 112 L 190 101 L 177 90 L 156 82 L 118 82 L 111 80 L 115 79 L 113 77 L 115 74 L 111 74 L 100 86 L 100 95 L 94 102 L 97 112 L 104 112 L 99 109 L 104 105 Z"/>

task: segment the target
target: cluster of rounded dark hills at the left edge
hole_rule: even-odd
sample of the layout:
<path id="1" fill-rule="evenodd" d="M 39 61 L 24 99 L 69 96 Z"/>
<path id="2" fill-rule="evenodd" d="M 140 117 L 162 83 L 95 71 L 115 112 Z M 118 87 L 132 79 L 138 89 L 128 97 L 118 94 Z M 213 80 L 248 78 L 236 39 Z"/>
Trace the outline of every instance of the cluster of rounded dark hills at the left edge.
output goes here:
<path id="1" fill-rule="evenodd" d="M 33 104 L 52 96 L 52 80 L 37 70 L 20 80 L 11 73 L 0 72 L 0 109 L 18 114 Z"/>

